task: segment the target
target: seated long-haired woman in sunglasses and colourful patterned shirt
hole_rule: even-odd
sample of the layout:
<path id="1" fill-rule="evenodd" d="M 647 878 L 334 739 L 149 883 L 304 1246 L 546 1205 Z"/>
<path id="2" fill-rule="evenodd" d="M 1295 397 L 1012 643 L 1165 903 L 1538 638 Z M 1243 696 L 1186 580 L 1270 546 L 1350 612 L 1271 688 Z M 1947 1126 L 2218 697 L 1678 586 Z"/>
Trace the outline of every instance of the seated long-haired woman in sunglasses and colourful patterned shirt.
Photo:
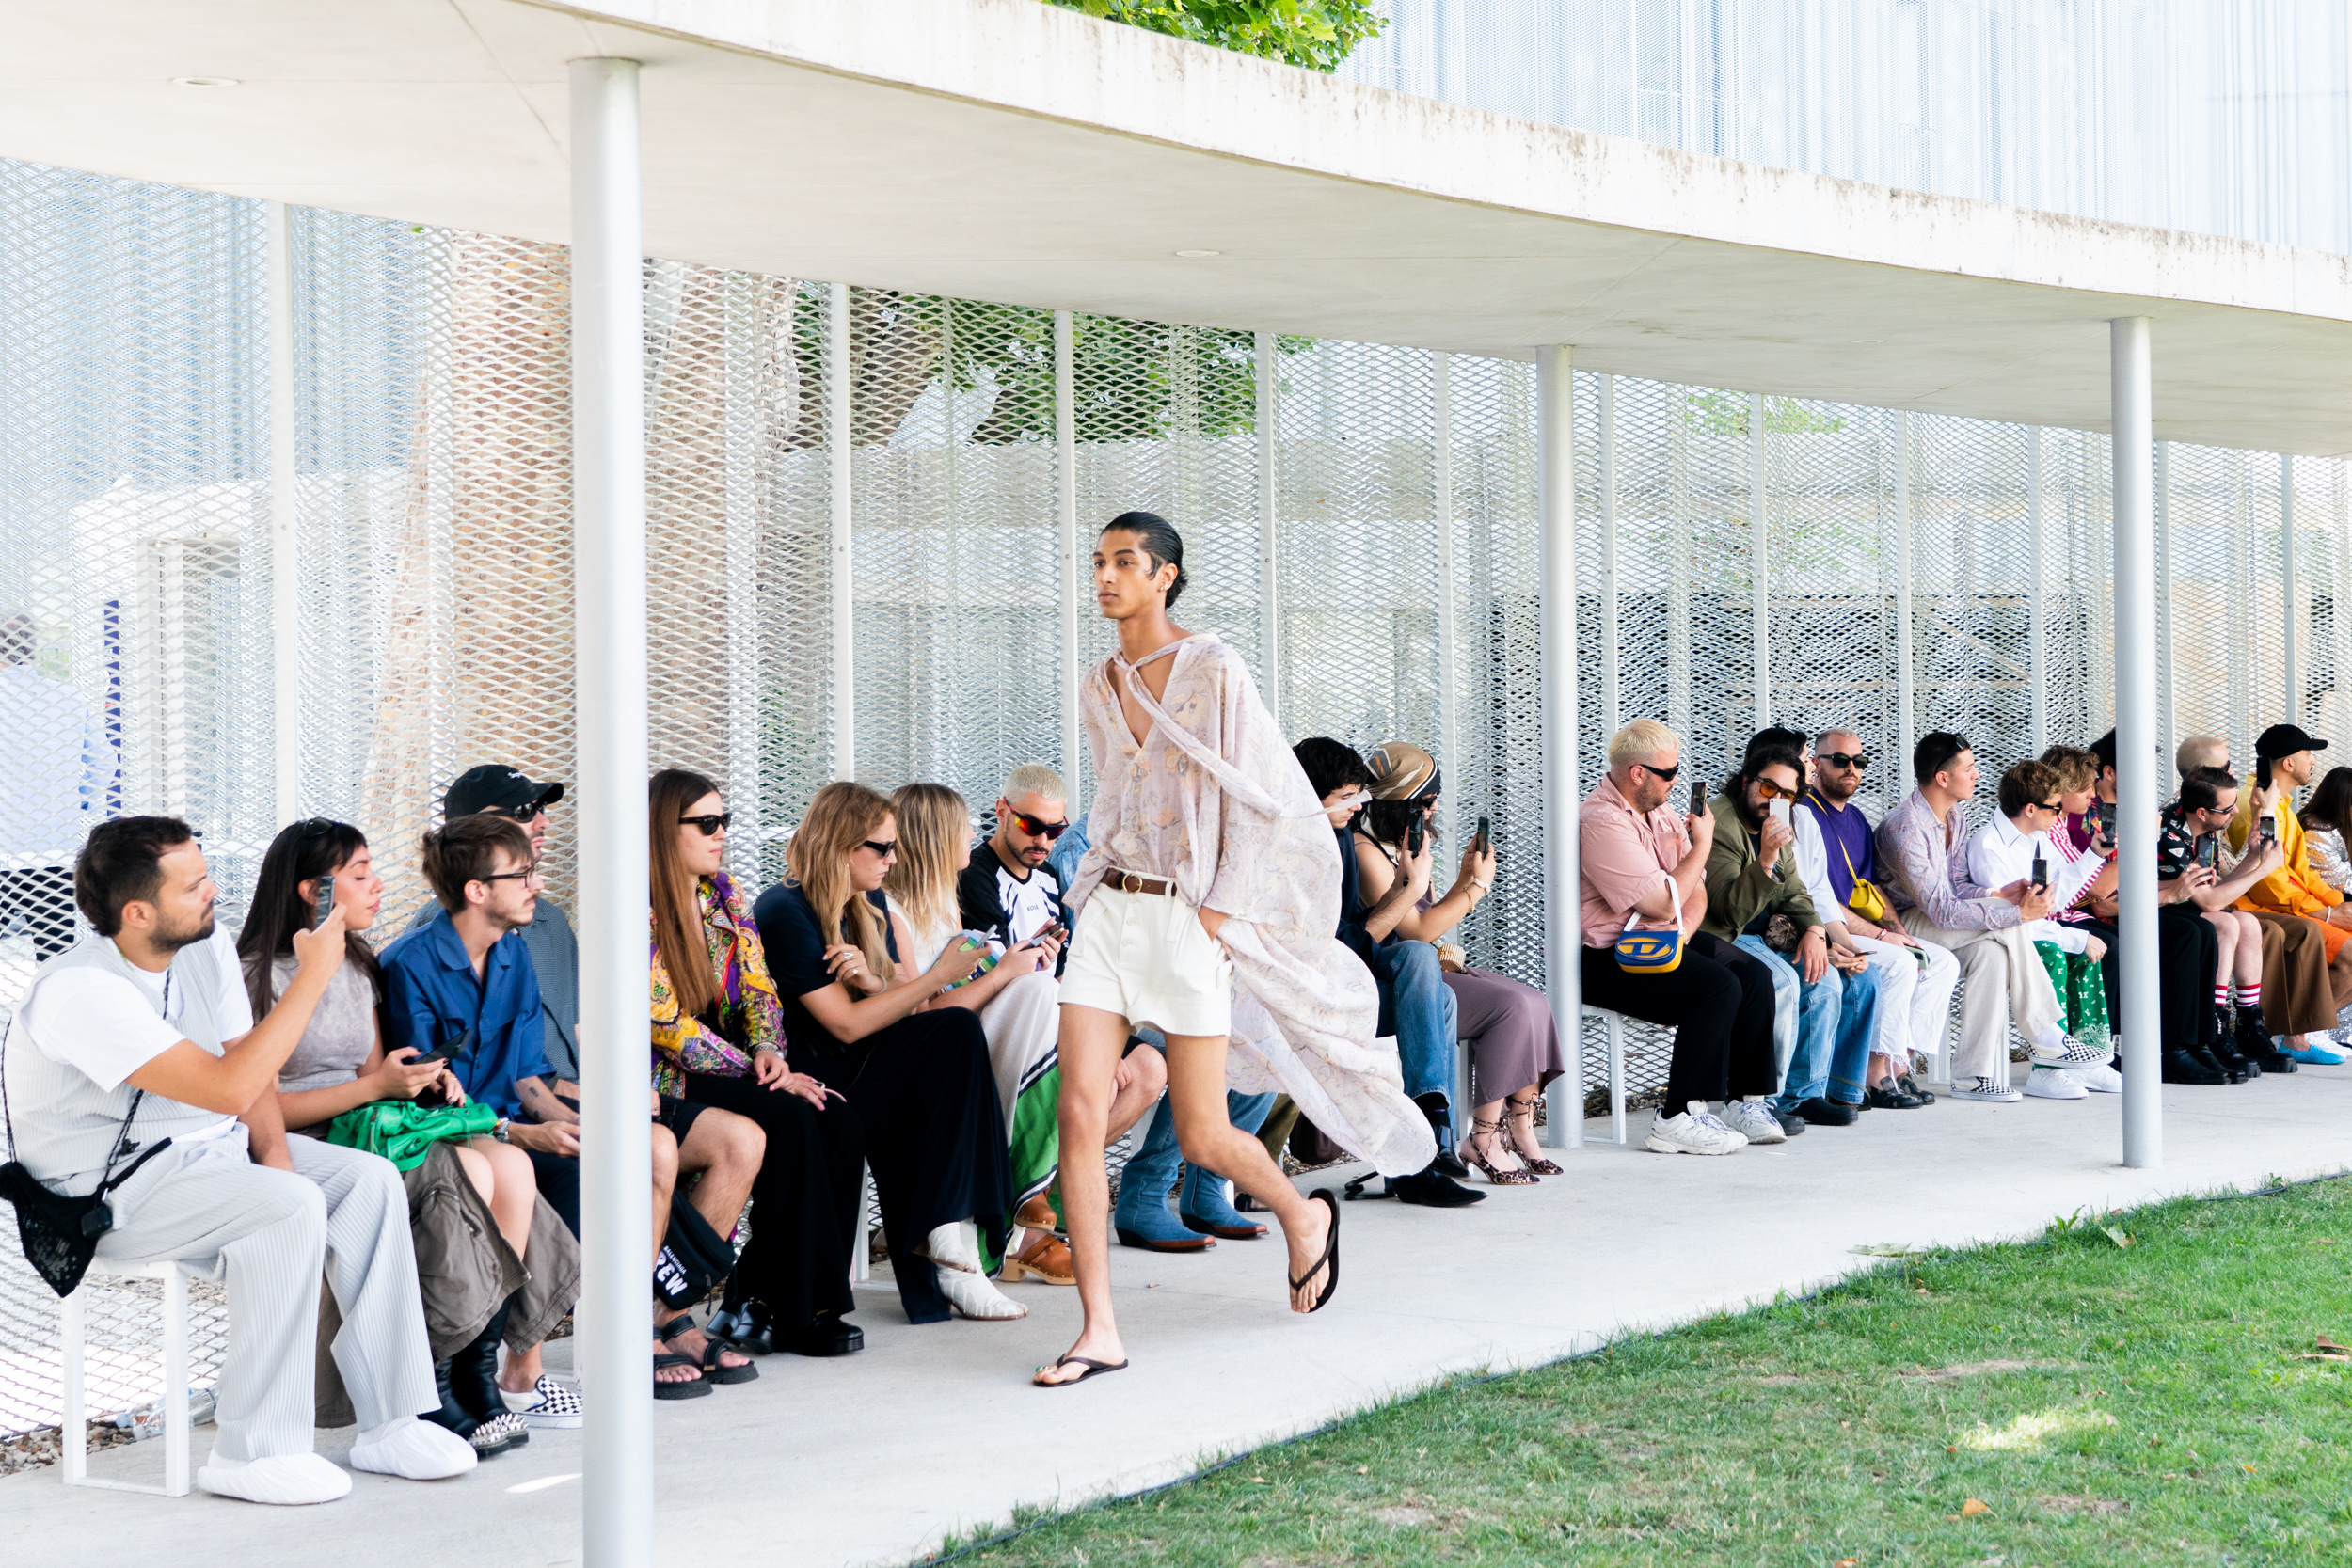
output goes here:
<path id="1" fill-rule="evenodd" d="M 840 1093 L 786 1060 L 776 983 L 724 870 L 727 823 L 715 783 L 684 769 L 654 773 L 654 1088 L 767 1131 L 750 1241 L 713 1333 L 762 1354 L 840 1356 L 866 1345 L 847 1321 L 866 1131 Z"/>

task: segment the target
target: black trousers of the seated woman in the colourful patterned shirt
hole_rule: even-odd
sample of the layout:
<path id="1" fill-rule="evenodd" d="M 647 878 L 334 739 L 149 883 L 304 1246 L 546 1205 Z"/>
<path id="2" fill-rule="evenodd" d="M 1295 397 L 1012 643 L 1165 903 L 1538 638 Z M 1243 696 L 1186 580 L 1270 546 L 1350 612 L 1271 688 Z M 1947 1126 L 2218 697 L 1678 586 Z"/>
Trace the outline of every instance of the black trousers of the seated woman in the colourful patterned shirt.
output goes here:
<path id="1" fill-rule="evenodd" d="M 816 1110 L 753 1079 L 689 1072 L 689 1105 L 750 1117 L 767 1154 L 750 1185 L 750 1241 L 727 1276 L 727 1309 L 750 1305 L 762 1319 L 800 1328 L 821 1312 L 854 1312 L 849 1255 L 858 1239 L 858 1164 L 866 1124 L 840 1100 Z"/>

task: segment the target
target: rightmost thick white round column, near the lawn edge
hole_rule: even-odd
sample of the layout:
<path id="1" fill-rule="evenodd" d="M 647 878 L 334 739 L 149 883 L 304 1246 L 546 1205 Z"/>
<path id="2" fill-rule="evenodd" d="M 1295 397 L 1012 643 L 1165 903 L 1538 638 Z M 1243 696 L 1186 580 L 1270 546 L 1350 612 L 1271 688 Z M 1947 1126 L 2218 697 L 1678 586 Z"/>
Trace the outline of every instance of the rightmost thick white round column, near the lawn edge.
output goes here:
<path id="1" fill-rule="evenodd" d="M 2157 997 L 2157 517 L 2147 317 L 2110 322 L 2114 442 L 2114 802 L 2122 849 L 2124 1164 L 2164 1164 Z"/>

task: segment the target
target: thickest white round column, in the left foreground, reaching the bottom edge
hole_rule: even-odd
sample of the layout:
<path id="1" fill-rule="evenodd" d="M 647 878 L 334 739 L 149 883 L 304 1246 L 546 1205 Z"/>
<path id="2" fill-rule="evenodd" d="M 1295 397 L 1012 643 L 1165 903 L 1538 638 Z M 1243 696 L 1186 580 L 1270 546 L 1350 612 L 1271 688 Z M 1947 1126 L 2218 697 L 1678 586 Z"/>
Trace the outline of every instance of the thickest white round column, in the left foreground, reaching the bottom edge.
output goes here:
<path id="1" fill-rule="evenodd" d="M 581 1542 L 654 1561 L 644 1375 L 644 174 L 637 61 L 572 61 L 572 527 L 581 912 Z M 590 635 L 593 630 L 593 635 Z"/>

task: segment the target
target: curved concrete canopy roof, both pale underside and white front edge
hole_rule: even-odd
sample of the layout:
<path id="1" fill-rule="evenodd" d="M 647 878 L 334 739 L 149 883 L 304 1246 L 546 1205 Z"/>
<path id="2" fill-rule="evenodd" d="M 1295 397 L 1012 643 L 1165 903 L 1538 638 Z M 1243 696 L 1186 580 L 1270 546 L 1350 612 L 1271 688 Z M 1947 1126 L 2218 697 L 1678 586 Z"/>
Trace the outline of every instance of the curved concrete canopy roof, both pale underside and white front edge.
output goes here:
<path id="1" fill-rule="evenodd" d="M 644 61 L 659 256 L 2352 454 L 2352 259 L 1531 125 L 1035 0 L 19 5 L 0 155 L 564 240 L 564 61 Z M 235 87 L 176 78 L 233 78 Z M 1216 256 L 1178 256 L 1202 249 Z"/>

